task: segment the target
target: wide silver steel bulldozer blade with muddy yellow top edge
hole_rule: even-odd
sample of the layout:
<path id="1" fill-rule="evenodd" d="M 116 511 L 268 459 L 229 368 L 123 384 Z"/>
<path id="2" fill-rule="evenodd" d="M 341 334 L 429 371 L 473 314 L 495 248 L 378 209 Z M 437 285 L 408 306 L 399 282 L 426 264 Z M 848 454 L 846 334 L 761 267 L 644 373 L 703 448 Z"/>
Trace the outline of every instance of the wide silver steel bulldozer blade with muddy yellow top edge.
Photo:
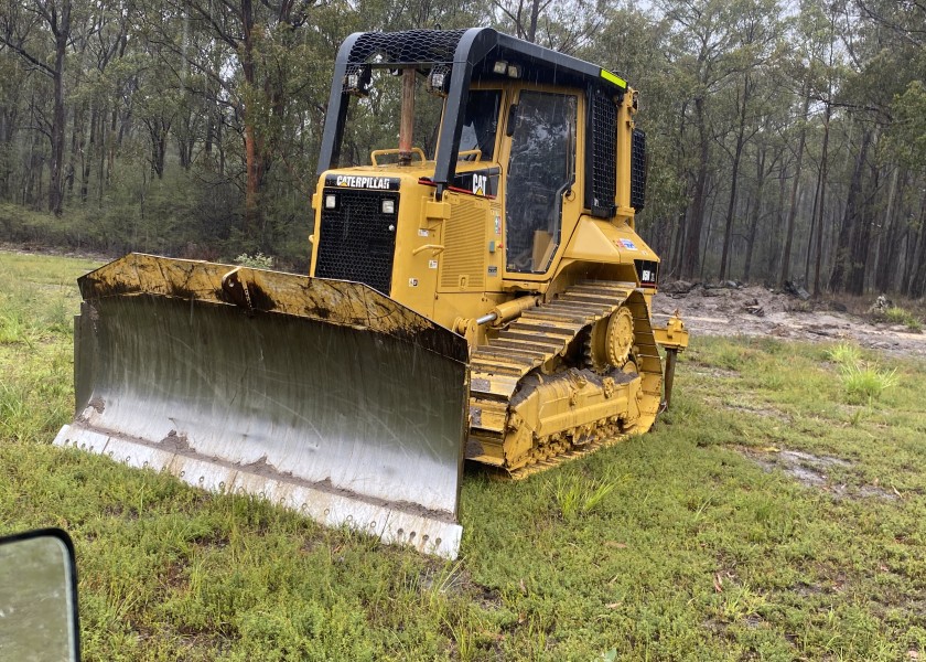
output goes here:
<path id="1" fill-rule="evenodd" d="M 341 280 L 131 254 L 78 284 L 56 445 L 457 555 L 462 337 Z"/>

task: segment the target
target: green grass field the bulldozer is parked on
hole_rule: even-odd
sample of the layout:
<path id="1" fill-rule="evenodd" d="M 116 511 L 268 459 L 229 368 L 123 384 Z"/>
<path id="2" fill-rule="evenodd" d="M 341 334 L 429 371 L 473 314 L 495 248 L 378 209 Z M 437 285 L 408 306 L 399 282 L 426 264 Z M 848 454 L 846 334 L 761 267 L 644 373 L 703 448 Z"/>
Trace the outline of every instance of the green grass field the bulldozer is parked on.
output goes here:
<path id="1" fill-rule="evenodd" d="M 926 659 L 922 363 L 696 338 L 655 433 L 467 473 L 443 563 L 52 447 L 93 266 L 0 253 L 0 533 L 71 532 L 88 660 Z"/>

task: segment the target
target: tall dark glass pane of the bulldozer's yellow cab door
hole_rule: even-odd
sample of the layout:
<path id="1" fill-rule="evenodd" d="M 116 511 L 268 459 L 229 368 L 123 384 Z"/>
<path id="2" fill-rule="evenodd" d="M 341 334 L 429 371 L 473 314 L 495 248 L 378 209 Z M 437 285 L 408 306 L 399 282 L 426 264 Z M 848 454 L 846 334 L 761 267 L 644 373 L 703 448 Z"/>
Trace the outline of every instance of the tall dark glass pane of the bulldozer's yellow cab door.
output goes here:
<path id="1" fill-rule="evenodd" d="M 579 95 L 521 89 L 506 127 L 506 274 L 546 274 L 563 241 L 563 218 L 581 213 L 575 194 Z"/>

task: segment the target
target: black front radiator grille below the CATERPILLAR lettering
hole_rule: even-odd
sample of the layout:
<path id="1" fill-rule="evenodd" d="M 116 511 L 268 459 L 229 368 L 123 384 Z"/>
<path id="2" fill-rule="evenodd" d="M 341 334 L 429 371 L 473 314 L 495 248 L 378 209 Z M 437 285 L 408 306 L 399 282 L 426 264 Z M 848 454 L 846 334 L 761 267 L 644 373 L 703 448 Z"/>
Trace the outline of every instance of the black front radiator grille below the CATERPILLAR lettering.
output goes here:
<path id="1" fill-rule="evenodd" d="M 335 209 L 322 210 L 315 276 L 354 280 L 389 295 L 396 253 L 396 193 L 325 189 L 322 200 L 334 195 Z M 384 214 L 383 201 L 394 200 L 396 213 Z"/>

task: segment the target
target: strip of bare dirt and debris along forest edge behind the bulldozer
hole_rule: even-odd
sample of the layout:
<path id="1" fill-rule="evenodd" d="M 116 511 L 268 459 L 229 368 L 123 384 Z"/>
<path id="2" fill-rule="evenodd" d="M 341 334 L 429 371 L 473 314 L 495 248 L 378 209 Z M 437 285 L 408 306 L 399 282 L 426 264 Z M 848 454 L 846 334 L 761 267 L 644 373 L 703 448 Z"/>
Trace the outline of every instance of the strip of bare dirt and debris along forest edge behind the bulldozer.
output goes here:
<path id="1" fill-rule="evenodd" d="M 672 287 L 676 286 L 676 287 Z M 874 305 L 876 297 L 871 297 Z M 833 342 L 848 340 L 897 356 L 926 357 L 926 334 L 903 325 L 876 323 L 831 301 L 762 286 L 668 284 L 653 299 L 657 322 L 678 309 L 692 335 L 756 335 Z"/>

